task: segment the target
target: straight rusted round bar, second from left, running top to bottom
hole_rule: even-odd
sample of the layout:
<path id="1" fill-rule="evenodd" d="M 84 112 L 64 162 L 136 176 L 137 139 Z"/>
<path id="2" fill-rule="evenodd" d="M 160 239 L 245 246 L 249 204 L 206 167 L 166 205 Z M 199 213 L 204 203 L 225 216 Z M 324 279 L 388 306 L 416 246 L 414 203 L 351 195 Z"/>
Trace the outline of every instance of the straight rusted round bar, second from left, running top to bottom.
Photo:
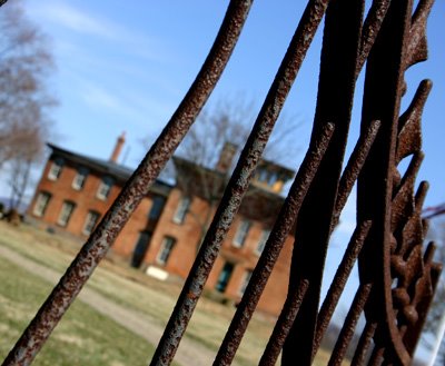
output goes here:
<path id="1" fill-rule="evenodd" d="M 323 19 L 327 2 L 313 0 L 306 7 L 150 365 L 169 365 L 175 356 L 221 243 L 238 211 L 250 177 Z"/>

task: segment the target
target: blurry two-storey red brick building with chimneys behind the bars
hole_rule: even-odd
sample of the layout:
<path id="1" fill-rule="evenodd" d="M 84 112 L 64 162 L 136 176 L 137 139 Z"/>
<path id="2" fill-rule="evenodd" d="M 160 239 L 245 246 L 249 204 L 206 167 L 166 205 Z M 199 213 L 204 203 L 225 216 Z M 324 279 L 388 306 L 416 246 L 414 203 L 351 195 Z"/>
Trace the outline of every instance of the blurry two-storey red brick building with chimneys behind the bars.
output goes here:
<path id="1" fill-rule="evenodd" d="M 28 217 L 53 230 L 87 238 L 131 170 L 117 162 L 119 137 L 109 160 L 48 145 L 51 155 L 36 188 Z M 226 145 L 215 169 L 174 158 L 176 184 L 158 180 L 119 234 L 111 250 L 158 278 L 186 278 L 227 182 L 235 149 Z M 283 204 L 293 172 L 263 161 L 225 239 L 206 284 L 234 300 L 241 297 Z M 294 238 L 286 240 L 258 308 L 278 314 L 287 293 Z"/>

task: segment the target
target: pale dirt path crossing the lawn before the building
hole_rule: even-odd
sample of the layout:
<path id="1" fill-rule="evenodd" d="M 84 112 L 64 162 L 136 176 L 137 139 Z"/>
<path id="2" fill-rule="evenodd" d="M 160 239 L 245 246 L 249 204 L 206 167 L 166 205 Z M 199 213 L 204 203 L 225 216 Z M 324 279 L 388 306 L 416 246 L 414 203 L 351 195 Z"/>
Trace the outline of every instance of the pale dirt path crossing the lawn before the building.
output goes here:
<path id="1" fill-rule="evenodd" d="M 56 270 L 24 258 L 9 248 L 0 246 L 0 256 L 53 285 L 56 285 L 60 279 L 61 275 Z M 85 287 L 79 294 L 78 299 L 113 319 L 130 332 L 141 336 L 155 346 L 158 344 L 162 335 L 164 328 L 150 324 L 150 319 L 144 314 L 117 305 L 91 288 Z M 214 357 L 215 355 L 200 344 L 184 338 L 178 352 L 176 353 L 175 362 L 184 366 L 207 366 L 211 365 Z"/>

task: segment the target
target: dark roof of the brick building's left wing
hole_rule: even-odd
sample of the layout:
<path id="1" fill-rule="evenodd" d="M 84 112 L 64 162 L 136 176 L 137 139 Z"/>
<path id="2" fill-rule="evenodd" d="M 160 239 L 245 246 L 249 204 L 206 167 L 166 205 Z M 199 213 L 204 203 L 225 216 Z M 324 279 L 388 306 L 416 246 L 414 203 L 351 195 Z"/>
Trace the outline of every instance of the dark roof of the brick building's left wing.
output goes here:
<path id="1" fill-rule="evenodd" d="M 98 174 L 107 175 L 113 178 L 120 185 L 123 185 L 134 172 L 134 169 L 117 164 L 115 161 L 98 159 L 82 154 L 73 152 L 49 142 L 47 144 L 47 146 L 52 150 L 53 157 L 61 157 L 67 161 L 75 162 L 76 165 L 86 167 Z M 157 179 L 151 187 L 151 191 L 156 191 L 160 195 L 168 195 L 171 188 L 171 185 L 160 179 Z"/>

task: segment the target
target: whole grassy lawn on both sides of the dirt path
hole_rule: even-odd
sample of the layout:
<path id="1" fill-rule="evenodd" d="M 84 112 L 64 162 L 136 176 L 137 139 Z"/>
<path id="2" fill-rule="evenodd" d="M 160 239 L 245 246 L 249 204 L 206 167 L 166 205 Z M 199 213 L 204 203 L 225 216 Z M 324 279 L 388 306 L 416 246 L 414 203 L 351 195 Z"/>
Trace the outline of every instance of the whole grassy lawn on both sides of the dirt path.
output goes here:
<path id="1" fill-rule="evenodd" d="M 50 235 L 30 226 L 13 228 L 0 222 L 0 245 L 58 271 L 66 270 L 80 248 L 79 243 Z M 44 300 L 52 285 L 3 259 L 0 266 L 0 357 L 6 355 L 23 327 Z M 87 287 L 127 309 L 147 316 L 152 324 L 167 323 L 180 291 L 178 284 L 146 276 L 109 256 L 87 283 Z M 201 298 L 185 337 L 216 353 L 235 309 Z M 254 315 L 234 365 L 257 365 L 274 322 Z M 81 301 L 75 301 L 36 365 L 146 365 L 152 346 Z M 319 352 L 314 365 L 326 365 L 328 353 Z M 63 360 L 65 359 L 65 360 Z"/>

